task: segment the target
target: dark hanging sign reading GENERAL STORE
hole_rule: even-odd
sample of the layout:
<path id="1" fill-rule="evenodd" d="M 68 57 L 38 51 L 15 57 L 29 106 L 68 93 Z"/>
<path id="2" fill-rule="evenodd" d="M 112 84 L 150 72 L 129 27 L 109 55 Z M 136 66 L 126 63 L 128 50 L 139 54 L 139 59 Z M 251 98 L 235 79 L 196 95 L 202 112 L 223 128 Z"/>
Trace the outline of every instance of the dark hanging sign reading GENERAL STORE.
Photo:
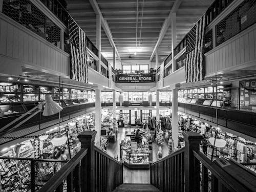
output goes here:
<path id="1" fill-rule="evenodd" d="M 154 75 L 116 75 L 116 82 L 154 82 Z"/>

